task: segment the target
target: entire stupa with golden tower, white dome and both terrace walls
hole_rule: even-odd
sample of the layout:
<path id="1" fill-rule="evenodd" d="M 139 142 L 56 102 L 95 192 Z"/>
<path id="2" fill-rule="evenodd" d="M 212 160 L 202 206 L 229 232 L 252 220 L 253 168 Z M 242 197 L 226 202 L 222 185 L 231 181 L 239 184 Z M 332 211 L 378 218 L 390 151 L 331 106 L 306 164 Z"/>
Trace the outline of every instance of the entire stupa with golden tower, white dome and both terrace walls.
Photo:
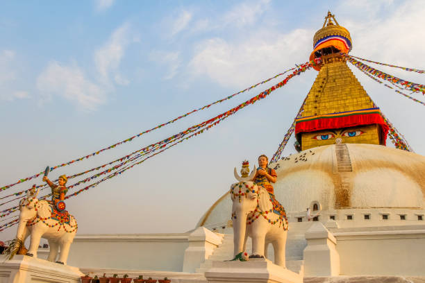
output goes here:
<path id="1" fill-rule="evenodd" d="M 296 119 L 299 153 L 269 164 L 289 221 L 286 267 L 304 282 L 424 282 L 425 157 L 385 145 L 381 110 L 343 55 L 351 46 L 328 12 L 310 54 L 319 73 Z M 223 188 L 189 232 L 77 234 L 68 264 L 90 275 L 207 282 L 213 261 L 233 258 L 231 207 Z"/>

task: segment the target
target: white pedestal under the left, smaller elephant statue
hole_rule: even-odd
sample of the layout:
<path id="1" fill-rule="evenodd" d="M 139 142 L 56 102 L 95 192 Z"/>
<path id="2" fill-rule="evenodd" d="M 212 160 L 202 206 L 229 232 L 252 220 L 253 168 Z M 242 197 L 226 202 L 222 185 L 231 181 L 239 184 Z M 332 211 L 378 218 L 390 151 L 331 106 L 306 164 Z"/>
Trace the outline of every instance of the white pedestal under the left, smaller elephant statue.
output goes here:
<path id="1" fill-rule="evenodd" d="M 8 260 L 8 256 L 0 256 L 0 282 L 81 282 L 84 276 L 79 268 L 56 264 L 45 259 L 35 259 L 26 255 L 15 255 Z"/>

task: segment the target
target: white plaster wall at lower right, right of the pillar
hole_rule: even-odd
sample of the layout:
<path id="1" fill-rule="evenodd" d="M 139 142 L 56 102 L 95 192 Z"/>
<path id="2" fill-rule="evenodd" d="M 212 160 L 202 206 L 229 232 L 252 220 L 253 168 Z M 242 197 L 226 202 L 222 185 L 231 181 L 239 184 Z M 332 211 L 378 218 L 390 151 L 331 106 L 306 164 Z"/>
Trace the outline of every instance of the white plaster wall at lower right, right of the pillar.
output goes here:
<path id="1" fill-rule="evenodd" d="M 425 225 L 420 228 L 335 232 L 340 275 L 424 276 Z"/>

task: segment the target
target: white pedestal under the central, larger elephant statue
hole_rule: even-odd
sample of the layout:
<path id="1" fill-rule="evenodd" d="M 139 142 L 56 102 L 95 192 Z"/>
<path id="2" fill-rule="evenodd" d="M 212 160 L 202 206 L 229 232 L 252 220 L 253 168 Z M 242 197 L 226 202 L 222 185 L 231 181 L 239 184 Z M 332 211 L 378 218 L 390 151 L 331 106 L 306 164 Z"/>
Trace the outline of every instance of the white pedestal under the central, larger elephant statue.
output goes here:
<path id="1" fill-rule="evenodd" d="M 303 283 L 303 275 L 277 266 L 268 259 L 249 261 L 213 261 L 205 273 L 208 283 Z"/>

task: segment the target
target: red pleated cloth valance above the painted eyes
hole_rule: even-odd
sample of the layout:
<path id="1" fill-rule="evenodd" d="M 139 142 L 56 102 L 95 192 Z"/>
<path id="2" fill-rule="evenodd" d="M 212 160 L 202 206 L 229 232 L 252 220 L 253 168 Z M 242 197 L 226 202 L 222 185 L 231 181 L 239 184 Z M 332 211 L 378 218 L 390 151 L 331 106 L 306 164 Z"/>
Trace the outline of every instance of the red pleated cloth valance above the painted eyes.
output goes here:
<path id="1" fill-rule="evenodd" d="M 295 125 L 295 134 L 299 132 L 315 132 L 317 130 L 328 130 L 338 128 L 348 128 L 354 126 L 365 126 L 378 124 L 381 132 L 383 145 L 387 140 L 388 126 L 383 120 L 381 114 L 358 114 L 344 117 L 330 117 L 315 119 L 311 121 L 300 121 Z"/>

